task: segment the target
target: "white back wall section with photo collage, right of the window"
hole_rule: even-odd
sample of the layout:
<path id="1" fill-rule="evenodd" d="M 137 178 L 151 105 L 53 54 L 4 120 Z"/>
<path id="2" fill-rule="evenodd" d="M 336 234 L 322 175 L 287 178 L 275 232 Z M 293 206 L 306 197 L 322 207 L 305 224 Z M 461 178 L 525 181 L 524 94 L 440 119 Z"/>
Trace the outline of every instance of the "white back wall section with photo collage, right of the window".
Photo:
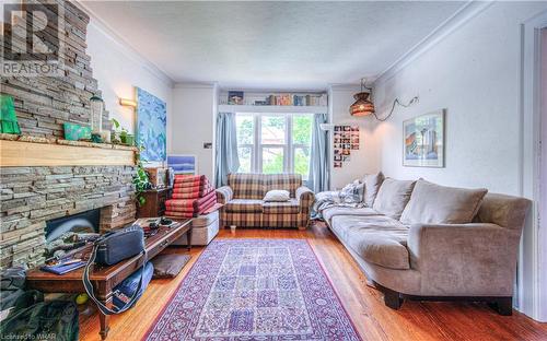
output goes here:
<path id="1" fill-rule="evenodd" d="M 377 140 L 372 138 L 370 118 L 352 117 L 349 106 L 356 101 L 353 95 L 360 91 L 354 85 L 331 85 L 329 89 L 329 114 L 334 125 L 359 126 L 360 149 L 351 151 L 349 162 L 344 162 L 341 168 L 334 167 L 333 131 L 330 132 L 330 188 L 339 189 L 354 179 L 361 179 L 366 173 L 380 170 Z"/>

